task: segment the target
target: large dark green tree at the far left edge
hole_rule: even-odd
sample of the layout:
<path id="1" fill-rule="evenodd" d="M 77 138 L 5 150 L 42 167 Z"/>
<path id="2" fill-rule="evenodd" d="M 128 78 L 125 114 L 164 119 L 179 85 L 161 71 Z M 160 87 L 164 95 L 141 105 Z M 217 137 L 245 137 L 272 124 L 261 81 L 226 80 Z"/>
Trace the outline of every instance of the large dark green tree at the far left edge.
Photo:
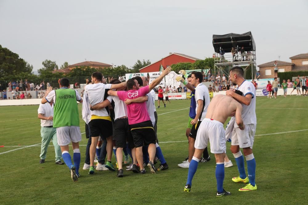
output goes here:
<path id="1" fill-rule="evenodd" d="M 31 73 L 32 68 L 30 64 L 13 53 L 7 48 L 2 48 L 0 45 L 0 79 L 7 78 L 8 75 L 17 75 L 18 73 Z"/>

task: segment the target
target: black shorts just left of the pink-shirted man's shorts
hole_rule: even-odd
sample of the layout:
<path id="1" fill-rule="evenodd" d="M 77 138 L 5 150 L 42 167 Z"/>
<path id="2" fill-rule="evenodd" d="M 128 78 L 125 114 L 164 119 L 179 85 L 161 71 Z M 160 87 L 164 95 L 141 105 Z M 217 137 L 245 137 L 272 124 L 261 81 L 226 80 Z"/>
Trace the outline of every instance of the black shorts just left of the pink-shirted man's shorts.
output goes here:
<path id="1" fill-rule="evenodd" d="M 112 139 L 115 140 L 117 148 L 126 148 L 126 139 L 132 141 L 131 128 L 128 124 L 128 118 L 119 118 L 115 120 Z M 131 147 L 130 148 L 134 148 Z"/>

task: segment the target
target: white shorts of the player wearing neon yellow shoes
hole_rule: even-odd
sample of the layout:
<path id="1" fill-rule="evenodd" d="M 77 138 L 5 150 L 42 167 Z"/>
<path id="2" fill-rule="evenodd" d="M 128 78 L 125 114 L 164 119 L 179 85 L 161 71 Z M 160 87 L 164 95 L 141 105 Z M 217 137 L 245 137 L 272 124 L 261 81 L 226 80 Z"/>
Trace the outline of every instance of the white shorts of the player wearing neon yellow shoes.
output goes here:
<path id="1" fill-rule="evenodd" d="M 234 128 L 231 137 L 231 145 L 239 145 L 240 148 L 249 147 L 252 149 L 256 124 L 245 124 L 245 129 Z"/>

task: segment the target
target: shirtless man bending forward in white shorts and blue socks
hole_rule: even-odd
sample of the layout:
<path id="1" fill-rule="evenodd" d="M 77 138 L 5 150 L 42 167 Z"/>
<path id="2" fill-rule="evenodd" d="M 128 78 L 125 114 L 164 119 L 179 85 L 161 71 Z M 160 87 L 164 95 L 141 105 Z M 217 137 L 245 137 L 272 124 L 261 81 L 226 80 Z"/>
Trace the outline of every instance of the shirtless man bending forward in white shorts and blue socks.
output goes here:
<path id="1" fill-rule="evenodd" d="M 241 91 L 236 90 L 241 95 Z M 225 178 L 225 153 L 226 153 L 226 138 L 224 123 L 229 116 L 236 118 L 236 123 L 241 130 L 244 130 L 242 116 L 242 105 L 233 97 L 225 95 L 216 95 L 209 104 L 205 119 L 201 122 L 197 132 L 195 142 L 195 153 L 189 164 L 187 183 L 184 191 L 190 192 L 192 179 L 197 171 L 198 162 L 201 158 L 203 150 L 207 147 L 208 142 L 211 144 L 211 152 L 216 158 L 216 180 L 217 180 L 217 197 L 230 195 L 225 191 L 223 182 Z"/>

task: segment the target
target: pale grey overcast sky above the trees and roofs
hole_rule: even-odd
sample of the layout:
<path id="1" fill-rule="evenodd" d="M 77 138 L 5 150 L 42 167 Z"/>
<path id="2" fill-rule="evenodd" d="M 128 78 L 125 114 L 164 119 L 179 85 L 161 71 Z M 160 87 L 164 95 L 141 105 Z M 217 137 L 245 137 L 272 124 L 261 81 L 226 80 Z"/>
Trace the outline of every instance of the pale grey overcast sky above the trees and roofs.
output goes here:
<path id="1" fill-rule="evenodd" d="M 212 57 L 213 34 L 252 32 L 257 65 L 308 52 L 308 1 L 0 0 L 0 45 L 45 59 L 132 67 L 169 52 Z"/>

